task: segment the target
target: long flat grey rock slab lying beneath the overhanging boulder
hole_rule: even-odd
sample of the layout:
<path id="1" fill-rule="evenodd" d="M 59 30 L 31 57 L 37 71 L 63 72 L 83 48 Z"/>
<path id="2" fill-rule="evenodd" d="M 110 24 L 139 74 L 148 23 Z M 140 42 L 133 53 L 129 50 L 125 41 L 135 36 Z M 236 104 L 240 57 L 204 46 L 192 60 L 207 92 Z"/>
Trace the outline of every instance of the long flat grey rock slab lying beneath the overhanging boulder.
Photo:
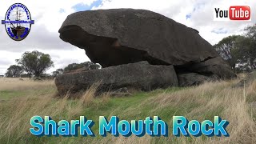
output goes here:
<path id="1" fill-rule="evenodd" d="M 159 87 L 178 86 L 174 66 L 154 66 L 147 62 L 110 66 L 101 70 L 62 74 L 55 78 L 59 94 L 86 90 L 100 82 L 99 90 L 118 90 L 132 87 L 139 90 L 154 90 Z"/>

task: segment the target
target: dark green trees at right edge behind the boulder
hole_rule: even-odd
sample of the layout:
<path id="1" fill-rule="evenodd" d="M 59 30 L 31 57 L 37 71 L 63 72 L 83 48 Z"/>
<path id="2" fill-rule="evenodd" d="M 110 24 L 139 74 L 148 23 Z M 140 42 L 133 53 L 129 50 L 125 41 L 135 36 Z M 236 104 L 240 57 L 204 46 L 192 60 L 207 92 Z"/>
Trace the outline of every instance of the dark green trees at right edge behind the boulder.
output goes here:
<path id="1" fill-rule="evenodd" d="M 247 26 L 245 34 L 231 35 L 214 45 L 214 49 L 235 73 L 256 69 L 256 26 Z"/>

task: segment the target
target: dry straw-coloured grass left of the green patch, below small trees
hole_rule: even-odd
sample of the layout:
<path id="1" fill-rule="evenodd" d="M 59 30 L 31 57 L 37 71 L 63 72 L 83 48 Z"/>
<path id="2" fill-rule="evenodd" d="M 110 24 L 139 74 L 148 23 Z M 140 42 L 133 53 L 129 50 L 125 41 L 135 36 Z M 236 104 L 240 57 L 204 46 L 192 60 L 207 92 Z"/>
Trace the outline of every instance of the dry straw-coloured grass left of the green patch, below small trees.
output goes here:
<path id="1" fill-rule="evenodd" d="M 34 82 L 26 79 L 20 81 L 18 78 L 0 79 L 1 90 L 34 90 L 34 93 L 10 100 L 0 101 L 0 143 L 30 143 L 33 142 L 34 136 L 30 134 L 30 118 L 34 115 L 49 115 L 54 120 L 71 120 L 79 118 L 82 110 L 86 106 L 98 104 L 94 102 L 94 94 L 97 85 L 92 86 L 89 90 L 77 99 L 70 99 L 70 94 L 62 98 L 56 98 L 56 94 L 44 94 L 34 96 L 37 90 L 52 90 L 53 81 Z M 103 95 L 101 102 L 106 102 L 108 95 Z M 35 138 L 38 139 L 38 138 Z M 33 142 L 34 143 L 34 142 Z"/>

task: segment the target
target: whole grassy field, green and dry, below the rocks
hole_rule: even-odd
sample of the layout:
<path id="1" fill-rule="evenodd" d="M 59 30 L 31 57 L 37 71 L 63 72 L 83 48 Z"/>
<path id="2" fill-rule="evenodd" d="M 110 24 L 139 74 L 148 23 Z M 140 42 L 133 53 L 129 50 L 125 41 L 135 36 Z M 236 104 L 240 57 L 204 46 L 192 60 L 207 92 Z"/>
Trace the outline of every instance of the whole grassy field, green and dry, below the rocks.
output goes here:
<path id="1" fill-rule="evenodd" d="M 169 88 L 152 92 L 136 92 L 132 96 L 110 98 L 103 94 L 94 98 L 94 90 L 82 94 L 81 98 L 56 98 L 53 81 L 20 81 L 0 78 L 0 142 L 2 143 L 256 143 L 256 82 L 245 90 L 234 88 L 238 80 L 227 82 L 207 82 L 201 86 L 188 88 Z M 95 122 L 90 137 L 36 137 L 30 134 L 30 118 L 34 115 L 49 115 L 55 121 L 78 119 L 86 116 Z M 169 137 L 150 137 L 145 135 L 106 138 L 98 135 L 98 116 L 120 120 L 145 119 L 159 116 L 169 124 Z M 229 138 L 180 137 L 171 134 L 172 116 L 182 115 L 189 120 L 214 120 L 218 115 L 230 122 L 227 131 Z"/>

